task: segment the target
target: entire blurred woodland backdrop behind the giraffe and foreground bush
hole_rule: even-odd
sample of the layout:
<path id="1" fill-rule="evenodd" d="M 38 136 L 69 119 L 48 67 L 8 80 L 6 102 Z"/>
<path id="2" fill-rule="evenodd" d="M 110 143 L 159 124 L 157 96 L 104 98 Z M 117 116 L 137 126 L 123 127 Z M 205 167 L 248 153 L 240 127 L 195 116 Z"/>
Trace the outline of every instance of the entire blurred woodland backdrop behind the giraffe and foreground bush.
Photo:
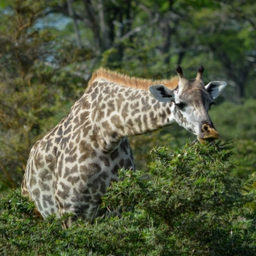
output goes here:
<path id="1" fill-rule="evenodd" d="M 194 78 L 203 64 L 206 83 L 228 82 L 210 115 L 236 141 L 237 175 L 254 172 L 255 13 L 252 0 L 0 0 L 0 190 L 19 186 L 30 148 L 100 66 L 170 78 L 181 64 Z M 171 126 L 131 138 L 137 168 L 147 169 L 156 144 L 180 147 L 188 137 Z"/>

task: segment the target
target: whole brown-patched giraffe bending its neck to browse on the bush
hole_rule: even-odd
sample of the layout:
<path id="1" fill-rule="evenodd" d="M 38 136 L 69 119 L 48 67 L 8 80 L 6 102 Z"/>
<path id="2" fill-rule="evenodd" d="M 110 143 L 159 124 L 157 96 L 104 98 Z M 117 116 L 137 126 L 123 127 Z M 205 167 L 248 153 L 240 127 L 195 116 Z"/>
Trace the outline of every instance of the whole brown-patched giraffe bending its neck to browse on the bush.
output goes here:
<path id="1" fill-rule="evenodd" d="M 120 168 L 134 170 L 128 138 L 178 123 L 199 142 L 216 140 L 208 110 L 227 83 L 204 85 L 203 67 L 195 79 L 178 76 L 150 81 L 100 68 L 92 74 L 84 95 L 60 123 L 34 144 L 22 180 L 43 218 L 63 216 L 71 227 L 78 218 L 93 221 L 102 213 L 102 195 L 118 181 Z"/>

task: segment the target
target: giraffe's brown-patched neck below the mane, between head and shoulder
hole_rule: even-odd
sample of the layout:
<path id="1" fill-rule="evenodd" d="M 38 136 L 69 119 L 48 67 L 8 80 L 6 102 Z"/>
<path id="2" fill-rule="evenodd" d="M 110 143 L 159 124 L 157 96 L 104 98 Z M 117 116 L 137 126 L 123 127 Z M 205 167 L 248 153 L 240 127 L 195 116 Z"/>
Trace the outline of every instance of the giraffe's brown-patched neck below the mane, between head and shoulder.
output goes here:
<path id="1" fill-rule="evenodd" d="M 148 90 L 130 88 L 99 79 L 88 88 L 92 122 L 98 137 L 111 150 L 123 137 L 148 133 L 174 123 L 170 103 L 158 102 Z"/>

